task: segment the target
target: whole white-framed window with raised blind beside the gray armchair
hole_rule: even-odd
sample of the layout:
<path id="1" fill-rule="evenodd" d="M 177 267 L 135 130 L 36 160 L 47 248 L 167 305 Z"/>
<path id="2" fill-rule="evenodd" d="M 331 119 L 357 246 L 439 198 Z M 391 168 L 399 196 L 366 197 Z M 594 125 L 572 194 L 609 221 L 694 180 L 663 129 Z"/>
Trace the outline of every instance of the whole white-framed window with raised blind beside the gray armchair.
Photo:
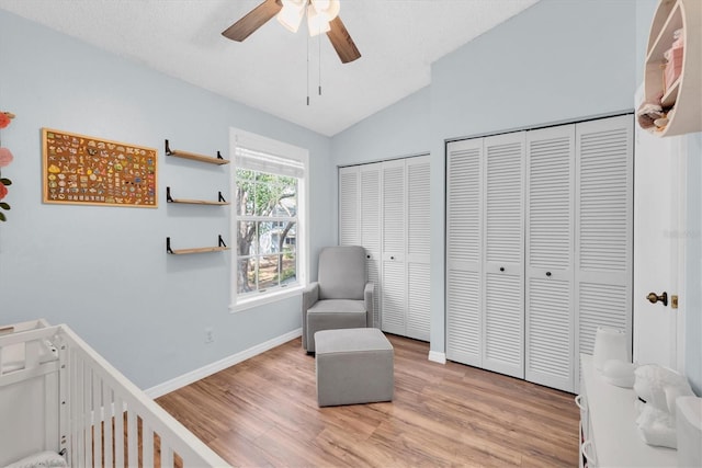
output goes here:
<path id="1" fill-rule="evenodd" d="M 307 151 L 233 130 L 233 307 L 248 308 L 305 284 Z"/>

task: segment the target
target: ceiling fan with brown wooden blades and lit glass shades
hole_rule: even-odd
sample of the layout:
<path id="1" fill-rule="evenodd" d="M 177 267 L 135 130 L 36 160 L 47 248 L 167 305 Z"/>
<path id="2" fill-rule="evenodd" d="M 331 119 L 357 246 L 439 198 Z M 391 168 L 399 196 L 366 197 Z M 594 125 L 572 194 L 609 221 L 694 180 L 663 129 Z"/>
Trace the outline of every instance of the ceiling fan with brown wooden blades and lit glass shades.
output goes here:
<path id="1" fill-rule="evenodd" d="M 275 15 L 283 26 L 296 33 L 305 13 L 307 13 L 309 35 L 327 33 L 327 37 L 343 64 L 361 57 L 361 53 L 339 18 L 339 0 L 264 0 L 227 27 L 222 35 L 231 41 L 242 42 Z"/>

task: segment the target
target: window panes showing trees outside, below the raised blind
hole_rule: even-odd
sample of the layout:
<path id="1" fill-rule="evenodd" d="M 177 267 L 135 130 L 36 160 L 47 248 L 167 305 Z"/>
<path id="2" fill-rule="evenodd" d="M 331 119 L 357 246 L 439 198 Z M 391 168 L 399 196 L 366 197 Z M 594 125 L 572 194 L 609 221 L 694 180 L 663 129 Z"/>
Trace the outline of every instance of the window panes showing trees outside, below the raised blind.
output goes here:
<path id="1" fill-rule="evenodd" d="M 237 294 L 297 282 L 298 179 L 237 169 Z"/>

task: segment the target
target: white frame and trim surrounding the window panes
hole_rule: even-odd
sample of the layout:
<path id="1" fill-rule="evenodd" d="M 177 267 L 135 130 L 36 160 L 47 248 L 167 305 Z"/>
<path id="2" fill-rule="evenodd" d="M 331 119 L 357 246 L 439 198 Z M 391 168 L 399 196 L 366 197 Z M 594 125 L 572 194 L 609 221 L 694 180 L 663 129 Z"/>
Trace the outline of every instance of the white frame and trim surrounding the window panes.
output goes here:
<path id="1" fill-rule="evenodd" d="M 234 162 L 234 170 L 229 176 L 229 196 L 233 201 L 229 205 L 231 220 L 230 232 L 236 233 L 237 229 L 237 205 L 236 205 L 236 155 L 237 148 L 244 147 L 254 151 L 260 151 L 269 155 L 274 155 L 279 158 L 292 159 L 299 161 L 304 165 L 305 174 L 301 179 L 297 189 L 297 226 L 296 226 L 296 255 L 297 255 L 297 285 L 275 288 L 271 292 L 264 292 L 257 295 L 249 295 L 247 297 L 239 297 L 237 294 L 237 248 L 231 248 L 231 261 L 230 261 L 230 303 L 229 311 L 237 312 L 240 310 L 247 310 L 252 307 L 262 306 L 264 304 L 275 303 L 287 297 L 301 295 L 304 287 L 307 285 L 308 272 L 309 272 L 309 220 L 307 214 L 309 213 L 309 151 L 305 148 L 299 148 L 283 141 L 267 138 L 261 135 L 252 134 L 239 128 L 231 127 L 229 129 L 229 155 L 231 155 L 231 161 Z M 236 242 L 236 239 L 233 240 Z"/>

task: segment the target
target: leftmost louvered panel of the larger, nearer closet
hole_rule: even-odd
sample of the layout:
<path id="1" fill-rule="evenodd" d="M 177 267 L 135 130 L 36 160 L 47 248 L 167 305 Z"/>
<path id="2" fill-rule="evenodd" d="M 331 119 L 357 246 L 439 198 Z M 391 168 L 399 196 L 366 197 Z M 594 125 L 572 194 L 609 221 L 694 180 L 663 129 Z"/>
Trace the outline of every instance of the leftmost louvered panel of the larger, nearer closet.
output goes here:
<path id="1" fill-rule="evenodd" d="M 446 358 L 482 367 L 483 138 L 446 155 Z"/>

